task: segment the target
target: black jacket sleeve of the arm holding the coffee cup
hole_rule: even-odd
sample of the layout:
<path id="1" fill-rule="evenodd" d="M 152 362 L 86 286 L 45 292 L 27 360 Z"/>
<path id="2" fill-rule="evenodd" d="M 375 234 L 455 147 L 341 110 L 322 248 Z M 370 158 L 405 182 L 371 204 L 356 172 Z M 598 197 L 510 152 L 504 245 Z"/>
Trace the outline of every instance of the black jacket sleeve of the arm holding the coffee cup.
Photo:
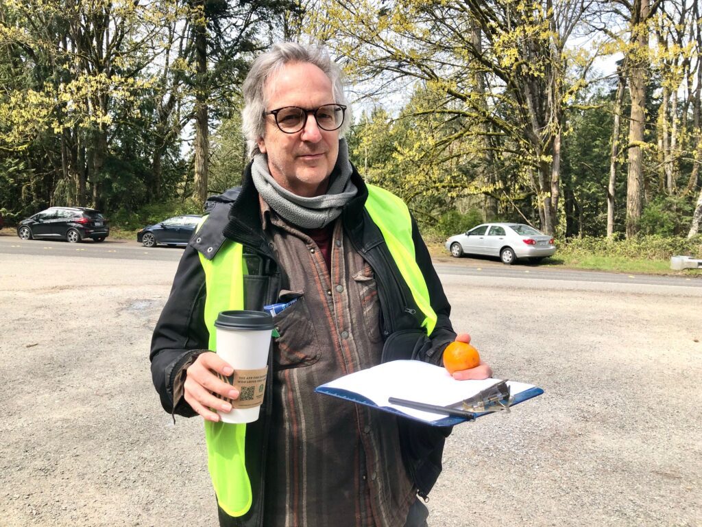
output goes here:
<path id="1" fill-rule="evenodd" d="M 188 245 L 178 264 L 171 294 L 151 339 L 151 375 L 169 413 L 192 417 L 196 415 L 176 393 L 173 408 L 173 386 L 182 386 L 184 368 L 208 348 L 209 332 L 204 323 L 205 273 L 197 250 Z M 178 391 L 178 390 L 177 390 Z"/>

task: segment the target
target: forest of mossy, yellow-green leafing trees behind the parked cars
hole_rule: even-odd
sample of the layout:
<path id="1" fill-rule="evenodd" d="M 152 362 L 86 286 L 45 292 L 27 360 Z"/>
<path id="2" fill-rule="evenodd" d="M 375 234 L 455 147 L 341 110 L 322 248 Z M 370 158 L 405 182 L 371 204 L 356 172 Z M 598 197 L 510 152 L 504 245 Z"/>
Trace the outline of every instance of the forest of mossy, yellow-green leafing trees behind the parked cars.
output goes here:
<path id="1" fill-rule="evenodd" d="M 695 0 L 1 0 L 0 212 L 13 224 L 89 206 L 127 230 L 201 213 L 248 161 L 251 60 L 296 40 L 326 45 L 350 80 L 352 162 L 435 239 L 519 221 L 564 246 L 700 257 L 700 10 Z"/>

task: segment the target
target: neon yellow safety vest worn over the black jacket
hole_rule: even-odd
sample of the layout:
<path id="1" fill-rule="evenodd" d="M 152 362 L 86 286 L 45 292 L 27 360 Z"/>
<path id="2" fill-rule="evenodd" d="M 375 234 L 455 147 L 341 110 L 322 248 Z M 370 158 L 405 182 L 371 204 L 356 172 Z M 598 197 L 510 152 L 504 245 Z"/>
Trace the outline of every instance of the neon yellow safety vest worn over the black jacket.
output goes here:
<path id="1" fill-rule="evenodd" d="M 412 297 L 424 315 L 421 326 L 431 334 L 437 322 L 429 291 L 414 253 L 412 221 L 406 204 L 380 187 L 368 185 L 366 211 L 378 226 Z M 206 221 L 206 218 L 203 220 Z M 243 247 L 227 240 L 212 260 L 202 254 L 205 273 L 205 324 L 210 334 L 209 349 L 217 349 L 215 320 L 220 311 L 244 308 Z M 230 516 L 243 516 L 251 508 L 252 495 L 246 471 L 246 424 L 205 421 L 208 469 L 219 506 Z"/>

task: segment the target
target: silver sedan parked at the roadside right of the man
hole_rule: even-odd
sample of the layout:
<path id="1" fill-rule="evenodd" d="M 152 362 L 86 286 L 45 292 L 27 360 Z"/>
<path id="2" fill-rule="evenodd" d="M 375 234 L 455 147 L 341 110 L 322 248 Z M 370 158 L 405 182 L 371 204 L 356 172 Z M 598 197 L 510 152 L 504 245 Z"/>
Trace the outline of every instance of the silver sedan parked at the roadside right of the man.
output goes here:
<path id="1" fill-rule="evenodd" d="M 523 223 L 483 223 L 464 234 L 451 236 L 446 240 L 446 249 L 454 258 L 485 254 L 499 256 L 508 265 L 524 258 L 541 261 L 556 252 L 553 238 Z"/>

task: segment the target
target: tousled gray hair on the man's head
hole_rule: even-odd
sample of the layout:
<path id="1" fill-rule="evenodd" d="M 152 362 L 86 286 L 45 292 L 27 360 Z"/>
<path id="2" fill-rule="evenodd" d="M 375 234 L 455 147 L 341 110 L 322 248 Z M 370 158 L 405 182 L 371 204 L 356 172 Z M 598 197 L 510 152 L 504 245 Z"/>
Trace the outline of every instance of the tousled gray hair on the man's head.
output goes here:
<path id="1" fill-rule="evenodd" d="M 351 126 L 351 108 L 344 94 L 344 77 L 341 68 L 329 57 L 322 46 L 305 46 L 297 42 L 279 42 L 270 51 L 263 53 L 253 61 L 249 74 L 244 81 L 244 110 L 241 110 L 241 130 L 249 145 L 249 155 L 260 153 L 256 141 L 264 136 L 266 100 L 265 83 L 289 63 L 310 63 L 329 77 L 334 102 L 345 105 L 344 122 L 339 129 L 343 137 Z"/>

